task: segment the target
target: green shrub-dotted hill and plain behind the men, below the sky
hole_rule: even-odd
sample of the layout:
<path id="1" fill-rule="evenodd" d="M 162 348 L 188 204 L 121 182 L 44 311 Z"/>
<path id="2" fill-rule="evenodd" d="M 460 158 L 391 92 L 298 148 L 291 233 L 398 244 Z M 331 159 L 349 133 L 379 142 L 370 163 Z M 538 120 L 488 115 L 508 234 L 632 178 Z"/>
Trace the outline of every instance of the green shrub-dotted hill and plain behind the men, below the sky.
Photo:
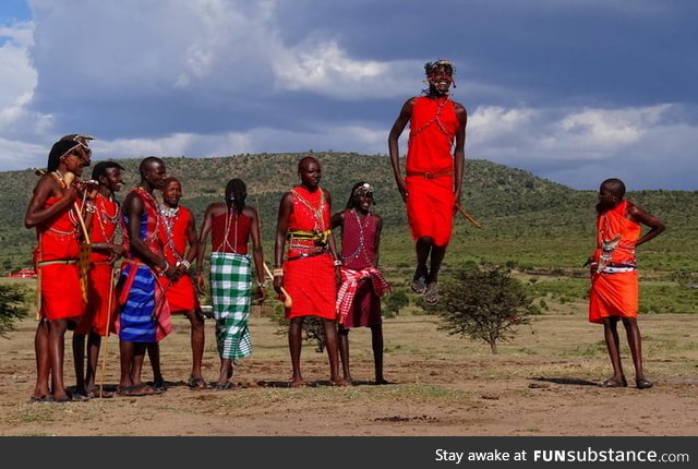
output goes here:
<path id="1" fill-rule="evenodd" d="M 182 204 L 201 220 L 206 205 L 220 200 L 226 182 L 241 178 L 248 203 L 260 207 L 264 248 L 273 250 L 273 231 L 281 194 L 298 182 L 298 160 L 308 154 L 238 155 L 222 158 L 165 158 L 169 176 L 182 181 Z M 376 212 L 385 219 L 382 264 L 409 267 L 412 243 L 405 209 L 385 156 L 312 154 L 322 164 L 323 185 L 333 194 L 334 211 L 342 208 L 359 180 L 376 188 Z M 127 188 L 139 181 L 140 160 L 120 160 Z M 89 176 L 89 168 L 84 175 Z M 604 175 L 600 177 L 603 179 Z M 527 171 L 484 160 L 468 160 L 464 205 L 482 229 L 460 215 L 446 265 L 468 261 L 528 268 L 580 267 L 593 246 L 597 195 L 538 178 Z M 37 181 L 33 169 L 0 172 L 0 273 L 31 265 L 34 231 L 23 226 L 24 211 Z M 125 190 L 119 199 L 123 199 Z M 667 231 L 639 250 L 643 267 L 695 272 L 698 266 L 698 193 L 686 191 L 630 192 L 633 199 L 662 218 Z"/>

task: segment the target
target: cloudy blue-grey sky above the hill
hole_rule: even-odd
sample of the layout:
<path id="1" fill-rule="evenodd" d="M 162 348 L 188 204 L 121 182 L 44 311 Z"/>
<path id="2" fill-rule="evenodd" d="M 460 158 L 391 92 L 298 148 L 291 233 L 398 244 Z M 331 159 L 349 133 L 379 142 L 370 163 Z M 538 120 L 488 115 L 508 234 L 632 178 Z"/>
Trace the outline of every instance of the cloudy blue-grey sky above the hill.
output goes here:
<path id="1" fill-rule="evenodd" d="M 384 155 L 444 58 L 467 159 L 695 191 L 697 19 L 694 0 L 2 0 L 0 171 L 69 133 L 94 160 Z"/>

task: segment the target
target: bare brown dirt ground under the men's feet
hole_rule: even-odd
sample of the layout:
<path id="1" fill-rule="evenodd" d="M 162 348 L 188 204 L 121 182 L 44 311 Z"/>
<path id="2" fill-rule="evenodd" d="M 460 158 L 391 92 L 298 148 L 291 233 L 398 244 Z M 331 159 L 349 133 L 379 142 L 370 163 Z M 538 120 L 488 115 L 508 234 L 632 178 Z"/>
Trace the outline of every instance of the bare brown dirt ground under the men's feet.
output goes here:
<path id="1" fill-rule="evenodd" d="M 600 326 L 583 305 L 534 317 L 500 347 L 438 330 L 435 317 L 402 313 L 384 323 L 385 375 L 371 385 L 370 330 L 350 335 L 351 387 L 327 385 L 325 353 L 303 348 L 311 386 L 290 389 L 286 338 L 257 310 L 251 321 L 254 354 L 237 369 L 234 390 L 185 385 L 189 323 L 174 320 L 161 344 L 169 389 L 157 396 L 69 404 L 32 404 L 33 337 L 26 320 L 0 338 L 0 435 L 698 435 L 698 317 L 640 320 L 651 389 L 602 388 L 611 375 Z M 205 376 L 217 377 L 213 322 L 206 322 Z M 70 342 L 65 374 L 74 383 Z M 107 341 L 105 383 L 118 382 L 118 344 Z M 145 378 L 152 378 L 146 362 Z"/>

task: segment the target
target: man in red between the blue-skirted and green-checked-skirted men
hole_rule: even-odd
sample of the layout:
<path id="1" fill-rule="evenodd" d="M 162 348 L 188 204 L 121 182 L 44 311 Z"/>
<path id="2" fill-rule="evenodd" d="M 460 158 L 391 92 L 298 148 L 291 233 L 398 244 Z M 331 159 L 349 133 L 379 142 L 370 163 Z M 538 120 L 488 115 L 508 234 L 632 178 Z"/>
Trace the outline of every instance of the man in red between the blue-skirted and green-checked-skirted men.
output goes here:
<path id="1" fill-rule="evenodd" d="M 194 284 L 188 275 L 191 263 L 196 258 L 196 220 L 189 208 L 179 204 L 182 197 L 182 184 L 179 179 L 167 178 L 164 184 L 160 236 L 165 246 L 165 260 L 177 268 L 179 278 L 172 281 L 167 277 L 159 277 L 159 280 L 165 289 L 170 312 L 184 314 L 191 325 L 192 371 L 188 385 L 191 388 L 205 389 L 206 382 L 201 372 L 205 340 L 204 317 Z M 147 351 L 153 365 L 154 386 L 164 389 L 159 344 L 149 344 Z"/>

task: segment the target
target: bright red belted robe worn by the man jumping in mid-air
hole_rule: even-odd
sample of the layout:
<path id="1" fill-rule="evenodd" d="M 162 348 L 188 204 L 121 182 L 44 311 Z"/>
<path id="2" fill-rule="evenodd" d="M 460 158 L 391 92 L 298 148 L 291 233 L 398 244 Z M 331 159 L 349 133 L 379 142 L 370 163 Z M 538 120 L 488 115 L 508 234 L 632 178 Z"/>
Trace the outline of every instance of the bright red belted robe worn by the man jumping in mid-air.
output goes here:
<path id="1" fill-rule="evenodd" d="M 421 96 L 414 100 L 406 160 L 407 218 L 414 240 L 430 237 L 438 246 L 448 245 L 453 231 L 456 200 L 452 148 L 458 125 L 448 97 Z"/>

